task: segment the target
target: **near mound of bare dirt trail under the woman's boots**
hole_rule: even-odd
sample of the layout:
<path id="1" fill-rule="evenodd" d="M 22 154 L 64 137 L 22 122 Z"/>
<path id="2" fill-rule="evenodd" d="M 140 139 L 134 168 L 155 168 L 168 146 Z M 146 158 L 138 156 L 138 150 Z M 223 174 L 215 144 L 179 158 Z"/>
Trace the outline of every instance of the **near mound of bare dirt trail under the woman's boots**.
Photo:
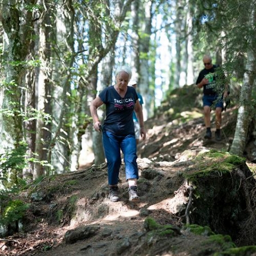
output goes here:
<path id="1" fill-rule="evenodd" d="M 187 151 L 188 153 L 188 151 Z M 23 232 L 0 241 L 0 255 L 170 255 L 164 248 L 175 247 L 175 256 L 213 255 L 222 246 L 207 242 L 199 236 L 181 230 L 181 216 L 173 214 L 184 198 L 175 197 L 182 187 L 180 173 L 190 166 L 199 152 L 191 150 L 181 156 L 182 161 L 152 162 L 138 159 L 138 180 L 141 202 L 128 200 L 127 183 L 122 165 L 119 182 L 120 202 L 108 199 L 106 164 L 73 173 L 57 175 L 50 182 L 36 185 L 42 199 L 31 200 L 27 192 L 20 198 L 31 203 Z M 193 156 L 194 154 L 194 156 Z M 255 170 L 256 165 L 251 168 Z M 145 241 L 145 220 L 160 225 L 173 225 L 176 236 L 161 241 Z M 184 223 L 183 223 L 184 224 Z M 251 255 L 251 254 L 248 254 Z M 253 255 L 253 254 L 252 254 Z"/>

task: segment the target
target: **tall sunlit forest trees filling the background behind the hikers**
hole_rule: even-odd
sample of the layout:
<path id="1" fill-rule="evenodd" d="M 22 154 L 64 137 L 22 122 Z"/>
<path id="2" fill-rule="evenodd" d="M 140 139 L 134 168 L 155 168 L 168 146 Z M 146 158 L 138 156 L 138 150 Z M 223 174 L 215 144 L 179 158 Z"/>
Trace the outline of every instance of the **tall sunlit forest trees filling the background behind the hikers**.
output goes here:
<path id="1" fill-rule="evenodd" d="M 194 86 L 210 54 L 238 91 L 230 153 L 242 156 L 248 127 L 255 132 L 253 1 L 2 0 L 0 20 L 2 191 L 77 170 L 90 154 L 105 161 L 88 105 L 122 64 L 146 120 L 172 90 Z"/>

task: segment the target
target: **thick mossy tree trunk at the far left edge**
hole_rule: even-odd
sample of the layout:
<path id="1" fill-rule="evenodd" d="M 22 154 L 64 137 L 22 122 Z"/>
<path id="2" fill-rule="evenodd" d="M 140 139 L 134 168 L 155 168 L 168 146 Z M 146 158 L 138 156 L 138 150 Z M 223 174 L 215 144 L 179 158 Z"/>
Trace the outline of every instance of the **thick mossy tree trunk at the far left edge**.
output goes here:
<path id="1" fill-rule="evenodd" d="M 15 5 L 15 1 L 3 1 L 2 24 L 4 29 L 3 58 L 7 61 L 4 65 L 5 84 L 3 107 L 12 111 L 10 118 L 7 115 L 3 117 L 5 130 L 9 133 L 15 147 L 23 138 L 21 111 L 21 60 L 26 56 L 23 51 L 20 33 L 24 28 L 20 24 L 20 12 Z M 17 63 L 13 65 L 12 63 Z"/>

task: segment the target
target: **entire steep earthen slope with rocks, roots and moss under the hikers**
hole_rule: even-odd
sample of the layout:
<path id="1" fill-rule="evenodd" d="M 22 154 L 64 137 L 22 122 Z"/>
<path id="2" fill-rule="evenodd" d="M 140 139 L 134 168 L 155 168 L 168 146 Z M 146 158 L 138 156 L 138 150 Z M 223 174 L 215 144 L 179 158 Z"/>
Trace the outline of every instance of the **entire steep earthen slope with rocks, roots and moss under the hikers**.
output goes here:
<path id="1" fill-rule="evenodd" d="M 231 251 L 228 254 L 228 250 L 235 246 L 234 242 L 239 245 L 239 237 L 235 235 L 238 229 L 230 229 L 229 234 L 227 225 L 220 225 L 217 221 L 211 222 L 212 230 L 207 227 L 200 229 L 197 226 L 186 228 L 185 225 L 188 222 L 193 224 L 195 219 L 199 219 L 198 216 L 200 220 L 208 220 L 208 222 L 211 220 L 202 217 L 197 210 L 193 210 L 194 214 L 187 214 L 188 210 L 193 209 L 187 207 L 190 202 L 190 186 L 187 187 L 187 180 L 193 180 L 190 175 L 196 171 L 202 179 L 198 170 L 205 170 L 205 167 L 210 167 L 210 170 L 206 169 L 206 171 L 212 175 L 211 167 L 214 166 L 215 160 L 209 161 L 204 156 L 203 159 L 193 161 L 198 155 L 210 149 L 227 151 L 234 136 L 236 123 L 236 107 L 233 106 L 223 112 L 223 140 L 221 142 L 216 142 L 214 139 L 205 140 L 200 107 L 201 96 L 198 90 L 192 87 L 177 89 L 170 95 L 168 101 L 164 101 L 161 108 L 157 109 L 155 117 L 145 122 L 148 137 L 138 145 L 140 203 L 131 204 L 128 201 L 124 165 L 120 170 L 119 183 L 122 200 L 117 203 L 110 202 L 107 198 L 105 163 L 101 166 L 91 166 L 77 172 L 45 178 L 39 183 L 34 182 L 18 196 L 23 202 L 29 203 L 30 207 L 23 217 L 23 227 L 19 228 L 19 232 L 0 239 L 1 255 L 181 256 L 214 255 L 217 252 L 233 255 Z M 184 102 L 184 105 L 180 105 L 179 102 Z M 212 124 L 214 124 L 214 114 Z M 217 166 L 222 166 L 222 162 L 223 160 L 217 162 Z M 202 165 L 199 168 L 197 164 Z M 237 164 L 240 166 L 240 163 Z M 205 185 L 207 191 L 203 192 L 204 198 L 208 198 L 206 200 L 209 201 L 214 194 L 214 202 L 221 202 L 220 195 L 227 194 L 227 197 L 221 198 L 223 206 L 218 205 L 218 209 L 224 209 L 230 202 L 231 206 L 226 211 L 215 211 L 214 216 L 227 218 L 230 215 L 228 210 L 231 209 L 230 211 L 235 214 L 240 206 L 234 205 L 236 202 L 241 203 L 241 199 L 236 202 L 230 200 L 234 197 L 228 197 L 229 191 L 221 191 L 225 186 L 217 184 L 222 184 L 221 182 L 236 184 L 233 191 L 235 193 L 245 184 L 236 173 L 245 173 L 246 180 L 250 180 L 253 184 L 255 169 L 255 165 L 247 161 L 247 164 L 243 163 L 241 167 L 235 165 L 228 170 L 232 173 L 231 183 L 228 178 L 230 175 L 226 177 L 227 180 L 224 180 L 222 175 L 218 175 L 215 179 L 210 176 L 210 179 L 201 180 L 200 184 L 204 182 L 207 184 Z M 224 171 L 227 169 L 224 168 Z M 217 168 L 214 172 L 223 174 L 223 169 Z M 199 191 L 204 190 L 204 185 L 197 187 L 200 188 Z M 210 187 L 212 189 L 208 190 Z M 213 188 L 221 192 L 217 193 Z M 228 187 L 230 191 L 231 188 Z M 236 194 L 235 198 L 245 197 L 247 205 L 252 205 L 251 211 L 254 216 L 255 205 L 253 201 L 251 202 L 253 189 L 242 191 Z M 203 208 L 202 201 L 196 200 L 196 197 L 193 205 L 197 205 L 195 209 Z M 239 212 L 240 221 L 236 223 L 245 222 L 244 214 L 248 216 L 248 212 Z M 203 222 L 200 220 L 197 222 L 202 225 Z M 232 220 L 234 221 L 235 217 Z M 251 224 L 254 221 L 252 217 Z M 230 222 L 228 224 L 230 225 Z M 220 230 L 224 232 L 223 236 L 214 236 L 214 232 L 217 234 Z M 234 242 L 228 235 L 233 236 Z M 255 234 L 243 235 L 254 237 Z M 245 243 L 245 240 L 243 242 Z M 256 248 L 251 247 L 244 249 L 243 253 L 247 254 L 237 255 L 253 255 L 255 252 Z"/>

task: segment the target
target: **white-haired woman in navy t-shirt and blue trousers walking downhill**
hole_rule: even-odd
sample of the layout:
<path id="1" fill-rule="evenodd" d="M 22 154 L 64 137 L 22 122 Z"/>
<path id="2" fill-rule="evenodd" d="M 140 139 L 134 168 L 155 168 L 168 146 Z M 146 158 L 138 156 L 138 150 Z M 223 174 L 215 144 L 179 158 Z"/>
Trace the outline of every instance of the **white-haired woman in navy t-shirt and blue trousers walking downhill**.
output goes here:
<path id="1" fill-rule="evenodd" d="M 109 199 L 113 202 L 118 197 L 118 175 L 121 166 L 121 152 L 124 154 L 125 175 L 129 186 L 129 200 L 138 202 L 137 179 L 137 147 L 133 124 L 133 111 L 136 112 L 140 133 L 146 138 L 142 107 L 136 90 L 128 86 L 132 71 L 129 66 L 121 66 L 115 72 L 116 83 L 100 92 L 91 102 L 90 113 L 96 131 L 101 131 L 101 123 L 97 108 L 106 105 L 106 118 L 102 125 L 102 141 L 108 167 Z"/>

